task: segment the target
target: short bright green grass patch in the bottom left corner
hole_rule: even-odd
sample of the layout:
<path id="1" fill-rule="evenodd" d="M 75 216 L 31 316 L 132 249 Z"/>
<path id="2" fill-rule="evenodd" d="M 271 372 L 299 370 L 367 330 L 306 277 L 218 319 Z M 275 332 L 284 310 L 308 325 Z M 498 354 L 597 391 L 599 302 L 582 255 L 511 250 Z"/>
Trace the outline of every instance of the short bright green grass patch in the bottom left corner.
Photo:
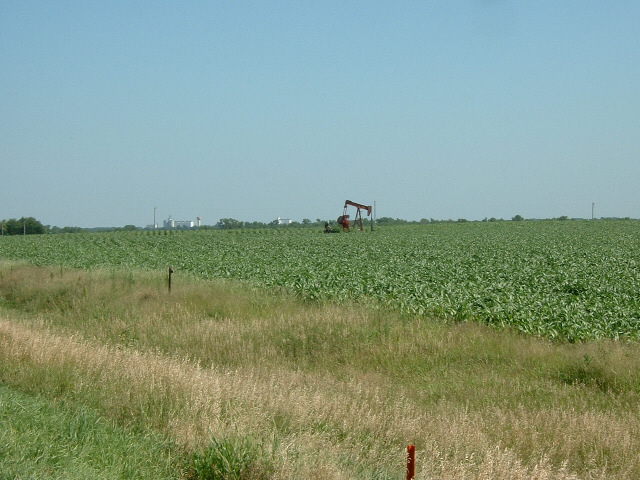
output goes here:
<path id="1" fill-rule="evenodd" d="M 0 384 L 0 478 L 177 479 L 160 435 L 142 434 L 78 405 Z"/>

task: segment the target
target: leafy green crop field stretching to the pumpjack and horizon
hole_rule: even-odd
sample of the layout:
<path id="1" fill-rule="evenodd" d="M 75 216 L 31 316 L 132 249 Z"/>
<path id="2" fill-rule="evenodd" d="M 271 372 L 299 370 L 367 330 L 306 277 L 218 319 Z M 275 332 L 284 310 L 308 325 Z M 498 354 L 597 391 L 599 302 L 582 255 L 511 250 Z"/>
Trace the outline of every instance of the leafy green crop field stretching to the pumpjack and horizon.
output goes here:
<path id="1" fill-rule="evenodd" d="M 552 339 L 640 337 L 640 222 L 461 222 L 4 237 L 0 258 L 231 278 Z"/>

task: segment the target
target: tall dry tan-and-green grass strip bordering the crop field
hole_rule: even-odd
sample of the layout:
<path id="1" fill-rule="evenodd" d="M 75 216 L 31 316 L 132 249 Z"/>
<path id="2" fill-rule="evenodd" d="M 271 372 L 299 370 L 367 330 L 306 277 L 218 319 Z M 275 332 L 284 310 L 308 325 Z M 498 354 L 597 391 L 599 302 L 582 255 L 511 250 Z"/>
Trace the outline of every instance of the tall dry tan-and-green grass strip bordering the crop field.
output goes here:
<path id="1" fill-rule="evenodd" d="M 164 280 L 0 265 L 0 382 L 166 436 L 188 478 L 399 479 L 409 443 L 418 478 L 640 478 L 635 343 Z"/>

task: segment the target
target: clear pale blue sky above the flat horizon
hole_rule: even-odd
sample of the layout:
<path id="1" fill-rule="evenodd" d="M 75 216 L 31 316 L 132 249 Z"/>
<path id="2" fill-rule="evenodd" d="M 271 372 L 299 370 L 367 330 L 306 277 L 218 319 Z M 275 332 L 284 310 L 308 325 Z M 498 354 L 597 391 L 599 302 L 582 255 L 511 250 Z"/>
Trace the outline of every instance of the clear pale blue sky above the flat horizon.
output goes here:
<path id="1" fill-rule="evenodd" d="M 0 169 L 61 227 L 640 218 L 640 1 L 3 0 Z"/>

